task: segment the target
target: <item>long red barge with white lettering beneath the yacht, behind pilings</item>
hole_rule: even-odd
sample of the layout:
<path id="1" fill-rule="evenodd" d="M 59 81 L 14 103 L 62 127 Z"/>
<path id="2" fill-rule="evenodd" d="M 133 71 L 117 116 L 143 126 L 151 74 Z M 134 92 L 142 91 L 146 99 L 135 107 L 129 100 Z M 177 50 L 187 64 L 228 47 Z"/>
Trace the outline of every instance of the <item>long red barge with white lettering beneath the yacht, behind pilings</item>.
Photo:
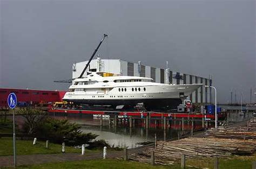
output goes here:
<path id="1" fill-rule="evenodd" d="M 215 115 L 202 115 L 198 113 L 175 113 L 175 112 L 132 112 L 132 111 L 95 111 L 95 110 L 76 110 L 76 109 L 61 109 L 61 108 L 49 108 L 49 112 L 59 112 L 59 113 L 68 113 L 68 114 L 90 114 L 90 115 L 118 115 L 118 116 L 132 116 L 132 117 L 169 117 L 169 118 L 209 118 L 215 119 Z M 218 114 L 218 118 L 225 118 L 225 113 Z"/>

